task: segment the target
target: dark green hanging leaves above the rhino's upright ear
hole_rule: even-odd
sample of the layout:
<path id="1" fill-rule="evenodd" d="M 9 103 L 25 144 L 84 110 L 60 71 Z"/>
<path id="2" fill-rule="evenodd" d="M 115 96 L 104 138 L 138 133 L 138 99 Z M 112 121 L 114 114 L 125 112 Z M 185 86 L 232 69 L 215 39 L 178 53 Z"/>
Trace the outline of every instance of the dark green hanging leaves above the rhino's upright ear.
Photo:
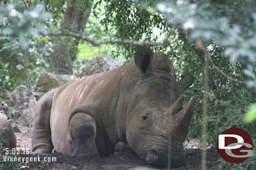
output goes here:
<path id="1" fill-rule="evenodd" d="M 101 25 L 104 30 L 111 33 L 110 38 L 163 41 L 167 34 L 168 23 L 155 14 L 149 13 L 142 5 L 136 5 L 127 0 L 106 0 L 104 17 Z M 99 5 L 102 0 L 97 2 Z M 151 5 L 151 3 L 146 3 Z M 157 32 L 157 33 L 156 33 Z M 124 56 L 127 61 L 131 60 L 136 51 L 135 46 L 116 44 L 116 50 L 111 52 L 113 58 Z M 154 47 L 155 51 L 162 51 L 163 47 Z"/>

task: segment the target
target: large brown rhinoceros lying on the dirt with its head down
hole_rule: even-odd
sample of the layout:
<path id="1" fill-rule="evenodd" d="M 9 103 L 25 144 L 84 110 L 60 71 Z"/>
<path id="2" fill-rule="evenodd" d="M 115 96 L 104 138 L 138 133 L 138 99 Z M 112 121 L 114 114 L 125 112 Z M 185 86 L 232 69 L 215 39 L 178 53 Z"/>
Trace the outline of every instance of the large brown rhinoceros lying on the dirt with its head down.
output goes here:
<path id="1" fill-rule="evenodd" d="M 182 109 L 183 92 L 192 83 L 191 74 L 176 81 L 164 53 L 138 46 L 125 65 L 42 96 L 33 114 L 32 152 L 54 148 L 97 158 L 130 150 L 149 165 L 166 166 L 169 148 L 172 167 L 184 165 L 195 97 Z"/>

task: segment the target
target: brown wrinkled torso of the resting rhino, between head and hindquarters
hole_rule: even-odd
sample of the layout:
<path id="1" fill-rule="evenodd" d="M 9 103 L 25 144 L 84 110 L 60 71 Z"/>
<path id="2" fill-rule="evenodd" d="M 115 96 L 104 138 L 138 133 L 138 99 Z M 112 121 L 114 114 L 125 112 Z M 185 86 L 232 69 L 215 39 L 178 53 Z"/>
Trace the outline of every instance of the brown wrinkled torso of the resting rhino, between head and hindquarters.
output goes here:
<path id="1" fill-rule="evenodd" d="M 138 76 L 134 75 L 138 74 L 137 71 L 134 61 L 131 61 L 111 71 L 93 74 L 61 86 L 52 101 L 50 120 L 55 150 L 68 154 L 73 152 L 68 121 L 77 112 L 94 117 L 98 138 L 101 138 L 98 141 L 109 141 L 106 146 L 100 144 L 102 147 L 115 147 L 120 141 L 119 136 L 125 134 L 123 99 L 129 93 L 131 84 L 136 84 Z"/>

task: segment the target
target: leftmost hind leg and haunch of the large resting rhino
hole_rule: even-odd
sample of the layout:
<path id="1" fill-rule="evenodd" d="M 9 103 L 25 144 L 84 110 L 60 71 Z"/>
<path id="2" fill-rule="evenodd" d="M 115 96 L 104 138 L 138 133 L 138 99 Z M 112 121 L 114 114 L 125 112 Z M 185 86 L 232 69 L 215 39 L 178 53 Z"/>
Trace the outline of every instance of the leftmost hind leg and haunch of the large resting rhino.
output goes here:
<path id="1" fill-rule="evenodd" d="M 37 101 L 33 113 L 33 129 L 31 135 L 31 144 L 33 153 L 51 153 L 53 149 L 50 116 L 52 109 L 52 98 L 57 89 L 53 89 L 44 94 Z"/>

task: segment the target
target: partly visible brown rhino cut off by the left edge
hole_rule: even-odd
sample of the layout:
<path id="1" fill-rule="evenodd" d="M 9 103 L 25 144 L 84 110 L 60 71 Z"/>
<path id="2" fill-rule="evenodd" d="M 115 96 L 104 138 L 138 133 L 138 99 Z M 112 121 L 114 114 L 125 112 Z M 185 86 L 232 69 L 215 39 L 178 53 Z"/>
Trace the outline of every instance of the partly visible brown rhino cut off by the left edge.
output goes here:
<path id="1" fill-rule="evenodd" d="M 15 148 L 16 147 L 16 136 L 13 131 L 13 127 L 10 126 L 8 129 L 6 126 L 9 126 L 9 120 L 4 114 L 0 113 L 0 142 L 3 144 L 3 147 Z M 3 141 L 5 130 L 8 131 L 7 142 Z"/>

